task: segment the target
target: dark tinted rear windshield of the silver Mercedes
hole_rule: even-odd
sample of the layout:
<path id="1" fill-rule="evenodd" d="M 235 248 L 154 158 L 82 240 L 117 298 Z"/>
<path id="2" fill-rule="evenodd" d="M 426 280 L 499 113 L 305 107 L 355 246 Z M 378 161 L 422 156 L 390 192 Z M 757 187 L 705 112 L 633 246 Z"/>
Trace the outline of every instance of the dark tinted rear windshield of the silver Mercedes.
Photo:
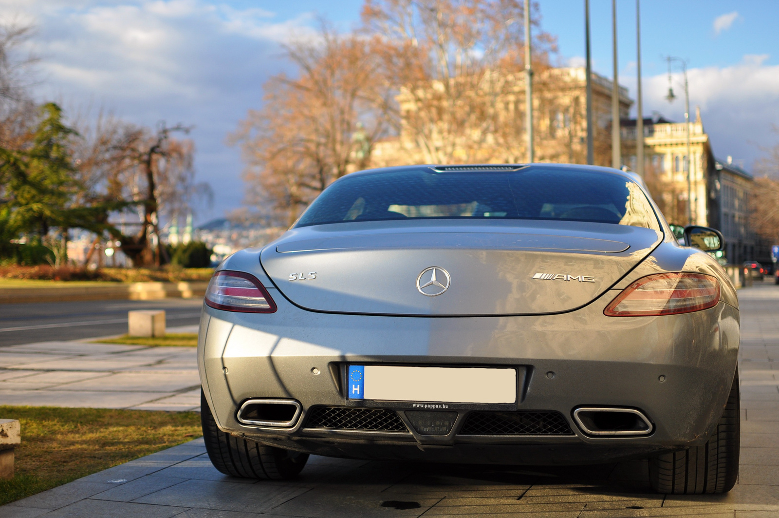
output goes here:
<path id="1" fill-rule="evenodd" d="M 296 226 L 411 218 L 566 220 L 659 228 L 643 191 L 624 176 L 533 167 L 344 176 L 319 195 Z"/>

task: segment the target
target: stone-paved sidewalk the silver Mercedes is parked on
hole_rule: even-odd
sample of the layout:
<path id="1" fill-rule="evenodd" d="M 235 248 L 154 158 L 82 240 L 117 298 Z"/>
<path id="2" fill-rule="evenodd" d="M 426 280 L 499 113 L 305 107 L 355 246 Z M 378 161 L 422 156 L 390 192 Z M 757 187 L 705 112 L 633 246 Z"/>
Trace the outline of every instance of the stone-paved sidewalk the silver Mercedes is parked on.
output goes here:
<path id="1" fill-rule="evenodd" d="M 217 472 L 197 439 L 0 507 L 0 516 L 779 516 L 779 286 L 739 298 L 742 466 L 727 495 L 656 495 L 646 461 L 483 467 L 312 457 L 296 481 L 258 482 Z"/>

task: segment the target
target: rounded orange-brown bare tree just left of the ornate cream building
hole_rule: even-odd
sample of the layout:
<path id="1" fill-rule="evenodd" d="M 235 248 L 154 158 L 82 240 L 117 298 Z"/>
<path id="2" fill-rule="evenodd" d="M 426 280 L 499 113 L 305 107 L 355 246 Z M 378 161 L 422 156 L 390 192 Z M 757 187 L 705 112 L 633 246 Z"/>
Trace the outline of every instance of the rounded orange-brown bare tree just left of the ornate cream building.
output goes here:
<path id="1" fill-rule="evenodd" d="M 391 91 L 380 80 L 375 40 L 340 36 L 325 23 L 317 41 L 287 46 L 298 76 L 273 76 L 262 109 L 231 136 L 247 164 L 247 202 L 291 225 L 326 186 L 368 165 L 386 133 Z"/>

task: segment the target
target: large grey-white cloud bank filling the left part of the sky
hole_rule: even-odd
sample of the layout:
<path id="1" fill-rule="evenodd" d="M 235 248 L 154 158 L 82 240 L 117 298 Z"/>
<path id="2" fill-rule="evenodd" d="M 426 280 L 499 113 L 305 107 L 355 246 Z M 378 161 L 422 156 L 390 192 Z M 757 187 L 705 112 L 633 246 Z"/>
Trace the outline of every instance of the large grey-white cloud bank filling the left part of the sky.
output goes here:
<path id="1" fill-rule="evenodd" d="M 311 13 L 278 20 L 211 0 L 0 0 L 0 9 L 37 27 L 29 50 L 41 57 L 41 101 L 196 126 L 197 175 L 218 186 L 216 215 L 243 192 L 226 134 L 261 105 L 266 78 L 287 69 L 279 44 L 315 34 Z"/>

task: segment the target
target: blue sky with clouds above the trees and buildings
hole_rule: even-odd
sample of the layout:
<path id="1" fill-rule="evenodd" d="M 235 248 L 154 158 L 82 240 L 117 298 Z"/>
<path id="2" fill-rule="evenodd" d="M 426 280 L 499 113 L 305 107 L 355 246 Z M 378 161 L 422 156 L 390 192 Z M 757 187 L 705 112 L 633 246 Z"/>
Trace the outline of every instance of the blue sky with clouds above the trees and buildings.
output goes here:
<path id="1" fill-rule="evenodd" d="M 33 23 L 26 50 L 40 58 L 35 92 L 67 113 L 100 109 L 146 126 L 194 126 L 196 175 L 211 207 L 196 222 L 241 207 L 240 150 L 226 139 L 262 105 L 265 80 L 291 72 L 280 44 L 312 34 L 324 16 L 339 30 L 359 23 L 362 0 L 0 0 L 0 17 Z M 583 0 L 538 0 L 541 28 L 558 37 L 557 64 L 583 64 Z M 636 2 L 617 0 L 619 82 L 636 98 Z M 594 70 L 612 76 L 612 2 L 590 0 Z M 714 154 L 753 168 L 761 147 L 779 144 L 779 2 L 644 0 L 643 111 L 684 119 L 680 68 L 688 63 L 691 112 L 700 106 Z M 635 115 L 635 106 L 633 115 Z"/>

